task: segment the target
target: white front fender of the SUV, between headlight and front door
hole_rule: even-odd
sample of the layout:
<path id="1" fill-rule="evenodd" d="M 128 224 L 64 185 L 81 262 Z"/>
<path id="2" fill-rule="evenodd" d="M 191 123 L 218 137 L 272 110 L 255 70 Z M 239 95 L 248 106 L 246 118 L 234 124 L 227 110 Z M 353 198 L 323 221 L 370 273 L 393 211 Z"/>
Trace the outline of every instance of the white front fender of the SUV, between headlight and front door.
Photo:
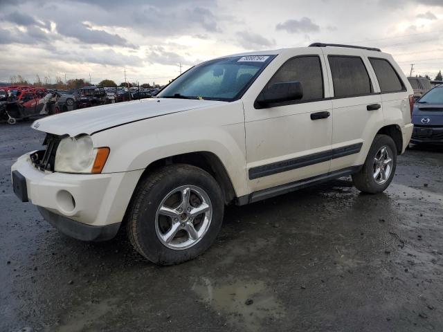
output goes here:
<path id="1" fill-rule="evenodd" d="M 247 194 L 242 102 L 125 124 L 94 134 L 93 142 L 111 149 L 103 173 L 145 169 L 179 154 L 211 152 L 223 163 L 237 196 Z"/>

